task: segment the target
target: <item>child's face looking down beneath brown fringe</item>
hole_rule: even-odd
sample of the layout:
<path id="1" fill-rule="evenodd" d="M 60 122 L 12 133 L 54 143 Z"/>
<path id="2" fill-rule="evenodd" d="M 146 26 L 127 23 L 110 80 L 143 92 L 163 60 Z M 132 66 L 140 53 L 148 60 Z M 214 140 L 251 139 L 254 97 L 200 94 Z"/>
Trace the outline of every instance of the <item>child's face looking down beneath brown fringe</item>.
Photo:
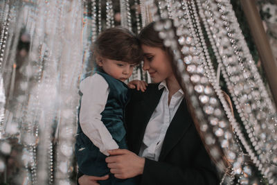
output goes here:
<path id="1" fill-rule="evenodd" d="M 98 61 L 98 65 L 109 75 L 117 80 L 124 82 L 133 73 L 134 64 L 129 64 L 128 62 L 122 62 L 118 60 L 111 60 L 107 58 L 102 58 Z"/>

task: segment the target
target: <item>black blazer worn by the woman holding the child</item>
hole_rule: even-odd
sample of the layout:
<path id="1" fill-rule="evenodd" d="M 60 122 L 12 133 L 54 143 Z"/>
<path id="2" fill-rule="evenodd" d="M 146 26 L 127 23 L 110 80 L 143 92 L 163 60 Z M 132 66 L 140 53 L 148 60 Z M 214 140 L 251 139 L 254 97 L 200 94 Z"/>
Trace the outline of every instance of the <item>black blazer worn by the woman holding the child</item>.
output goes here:
<path id="1" fill-rule="evenodd" d="M 139 154 L 146 125 L 159 103 L 163 89 L 150 84 L 147 90 L 132 91 L 125 123 L 129 150 Z M 159 161 L 145 159 L 140 184 L 219 184 L 217 170 L 206 152 L 183 100 L 163 141 Z"/>

